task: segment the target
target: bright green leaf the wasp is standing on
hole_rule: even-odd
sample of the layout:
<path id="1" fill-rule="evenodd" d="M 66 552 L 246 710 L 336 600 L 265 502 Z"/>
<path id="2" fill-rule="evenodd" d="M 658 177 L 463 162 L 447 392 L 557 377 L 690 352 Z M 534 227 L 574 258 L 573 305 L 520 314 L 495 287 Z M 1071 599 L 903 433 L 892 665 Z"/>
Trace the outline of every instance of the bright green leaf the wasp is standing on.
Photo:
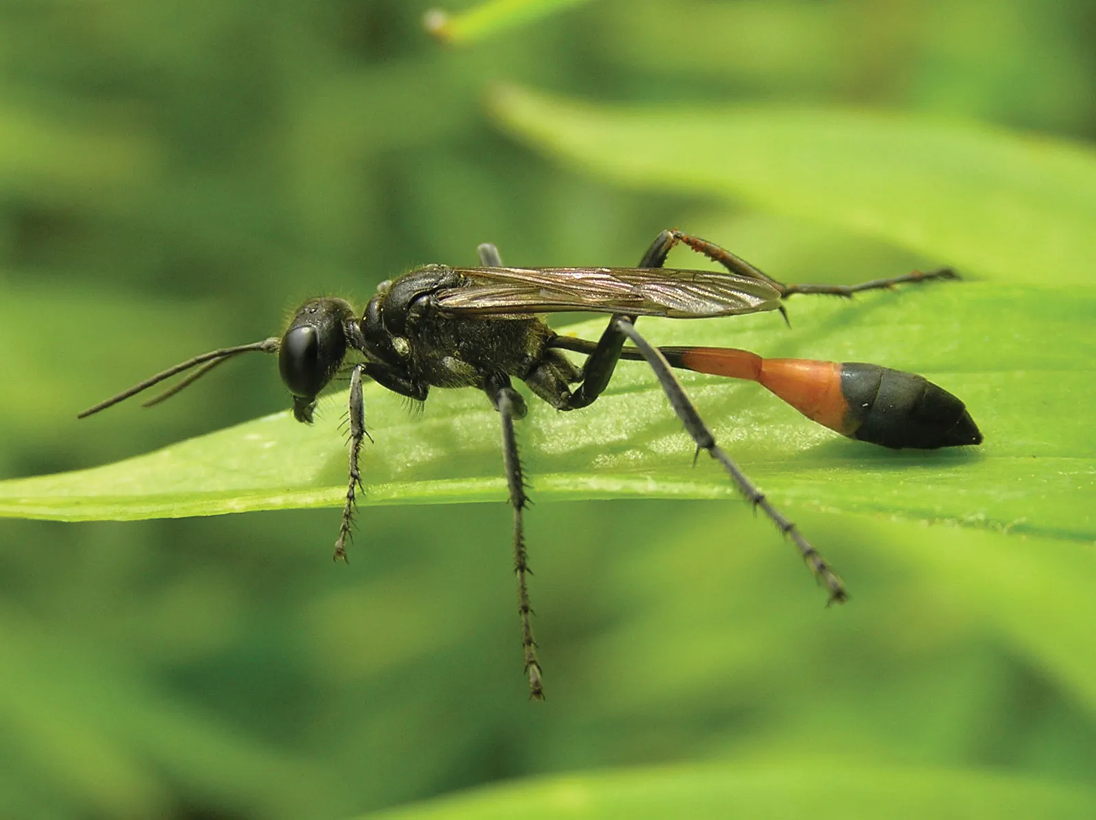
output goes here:
<path id="1" fill-rule="evenodd" d="M 961 282 L 856 303 L 797 298 L 789 308 L 790 331 L 775 314 L 641 326 L 659 344 L 921 372 L 967 402 L 986 440 L 888 451 L 818 427 L 756 385 L 683 374 L 724 449 L 779 505 L 1096 536 L 1096 434 L 1077 409 L 1096 401 L 1088 323 L 1096 293 L 1076 289 L 1063 300 L 1051 290 Z M 596 320 L 573 331 L 594 337 L 602 326 Z M 344 401 L 326 400 L 313 427 L 279 413 L 93 470 L 0 482 L 0 515 L 75 521 L 338 506 Z M 505 498 L 498 417 L 476 391 L 435 390 L 421 416 L 375 385 L 366 401 L 376 441 L 362 457 L 368 503 Z M 66 435 L 93 435 L 95 423 L 73 420 Z M 520 428 L 538 500 L 734 495 L 707 459 L 692 466 L 692 442 L 638 362 L 623 363 L 587 409 L 558 413 L 530 400 Z"/>

